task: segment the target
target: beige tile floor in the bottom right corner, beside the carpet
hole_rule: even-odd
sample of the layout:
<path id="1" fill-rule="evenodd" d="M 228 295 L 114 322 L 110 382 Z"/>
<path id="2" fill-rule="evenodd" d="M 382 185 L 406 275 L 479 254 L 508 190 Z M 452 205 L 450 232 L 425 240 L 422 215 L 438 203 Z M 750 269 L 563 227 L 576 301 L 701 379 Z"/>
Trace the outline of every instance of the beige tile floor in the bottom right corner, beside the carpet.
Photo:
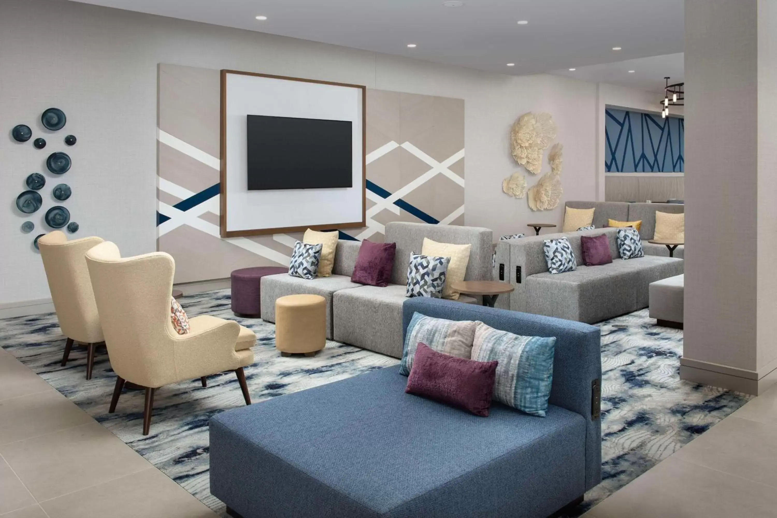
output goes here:
<path id="1" fill-rule="evenodd" d="M 777 516 L 777 385 L 584 516 Z"/>

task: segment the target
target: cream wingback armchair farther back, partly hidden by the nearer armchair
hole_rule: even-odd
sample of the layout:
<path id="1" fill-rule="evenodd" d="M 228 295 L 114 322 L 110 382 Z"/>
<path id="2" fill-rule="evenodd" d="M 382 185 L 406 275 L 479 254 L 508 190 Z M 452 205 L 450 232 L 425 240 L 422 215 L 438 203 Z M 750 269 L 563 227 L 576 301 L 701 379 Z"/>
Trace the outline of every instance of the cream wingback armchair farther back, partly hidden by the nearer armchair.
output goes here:
<path id="1" fill-rule="evenodd" d="M 55 230 L 38 239 L 40 257 L 44 260 L 46 278 L 54 301 L 54 311 L 62 334 L 67 337 L 62 354 L 62 367 L 68 363 L 74 342 L 86 344 L 86 379 L 92 379 L 95 349 L 103 342 L 103 329 L 86 267 L 85 254 L 102 238 L 73 239 Z"/>

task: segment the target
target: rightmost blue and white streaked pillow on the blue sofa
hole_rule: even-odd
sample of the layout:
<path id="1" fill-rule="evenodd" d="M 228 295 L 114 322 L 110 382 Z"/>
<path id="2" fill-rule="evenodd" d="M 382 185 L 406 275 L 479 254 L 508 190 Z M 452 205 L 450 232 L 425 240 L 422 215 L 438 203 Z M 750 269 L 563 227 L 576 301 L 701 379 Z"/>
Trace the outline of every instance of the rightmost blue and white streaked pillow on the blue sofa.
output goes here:
<path id="1" fill-rule="evenodd" d="M 555 336 L 514 335 L 477 322 L 472 360 L 499 362 L 493 398 L 528 414 L 545 417 L 555 352 Z"/>

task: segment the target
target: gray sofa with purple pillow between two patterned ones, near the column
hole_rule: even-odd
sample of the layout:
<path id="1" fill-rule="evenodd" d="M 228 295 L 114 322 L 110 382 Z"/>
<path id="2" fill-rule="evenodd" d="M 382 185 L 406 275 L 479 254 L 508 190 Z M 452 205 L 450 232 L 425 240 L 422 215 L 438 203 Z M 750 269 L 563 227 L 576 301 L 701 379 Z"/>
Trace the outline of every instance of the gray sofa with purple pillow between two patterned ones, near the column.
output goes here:
<path id="1" fill-rule="evenodd" d="M 596 228 L 497 243 L 497 279 L 515 287 L 509 297 L 497 300 L 497 307 L 589 324 L 646 308 L 650 283 L 683 273 L 684 262 L 678 258 L 648 255 L 620 259 L 617 231 L 617 228 Z M 585 266 L 580 236 L 601 234 L 608 236 L 612 262 Z M 562 236 L 566 236 L 572 245 L 577 269 L 552 274 L 545 262 L 543 241 Z"/>

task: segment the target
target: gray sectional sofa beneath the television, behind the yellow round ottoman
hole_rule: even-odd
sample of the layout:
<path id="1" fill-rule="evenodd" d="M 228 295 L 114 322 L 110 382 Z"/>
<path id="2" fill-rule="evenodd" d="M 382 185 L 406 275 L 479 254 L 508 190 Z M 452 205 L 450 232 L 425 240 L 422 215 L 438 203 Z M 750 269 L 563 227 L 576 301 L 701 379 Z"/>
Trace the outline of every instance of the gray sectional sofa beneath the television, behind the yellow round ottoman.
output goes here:
<path id="1" fill-rule="evenodd" d="M 465 280 L 492 277 L 492 235 L 487 228 L 395 221 L 385 225 L 385 242 L 396 243 L 391 283 L 387 287 L 350 282 L 360 242 L 340 240 L 333 275 L 306 280 L 285 273 L 262 278 L 262 318 L 275 322 L 275 299 L 290 294 L 318 294 L 326 299 L 326 337 L 397 358 L 402 356 L 402 302 L 406 300 L 410 252 L 421 252 L 423 238 L 472 245 Z M 462 294 L 459 302 L 476 303 Z"/>

